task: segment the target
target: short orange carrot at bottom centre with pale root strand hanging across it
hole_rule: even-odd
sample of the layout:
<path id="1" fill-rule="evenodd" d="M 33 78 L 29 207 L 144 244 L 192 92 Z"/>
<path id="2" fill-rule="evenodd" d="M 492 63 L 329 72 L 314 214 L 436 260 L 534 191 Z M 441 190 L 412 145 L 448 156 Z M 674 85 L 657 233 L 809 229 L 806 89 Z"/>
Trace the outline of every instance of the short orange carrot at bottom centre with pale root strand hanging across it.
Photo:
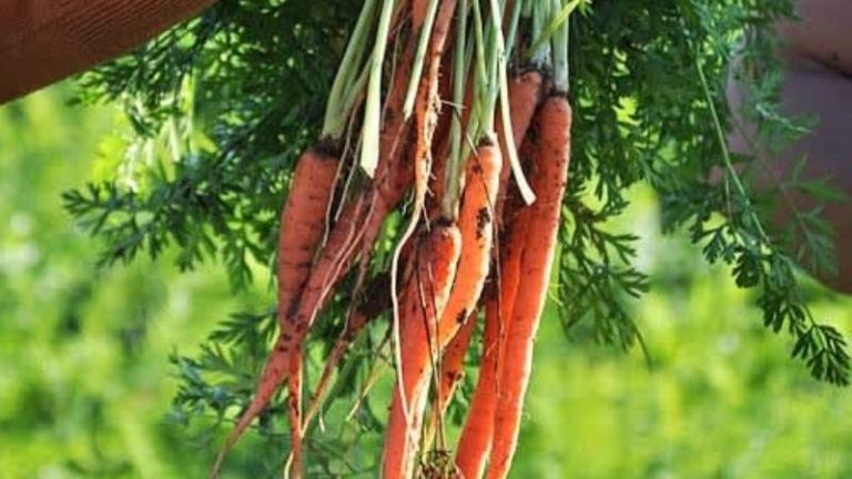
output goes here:
<path id="1" fill-rule="evenodd" d="M 422 236 L 412 255 L 415 273 L 403 291 L 400 298 L 403 394 L 394 389 L 394 398 L 385 435 L 383 475 L 385 479 L 408 478 L 412 475 L 419 436 L 420 417 L 405 417 L 402 401 L 410 410 L 422 410 L 427 395 L 427 381 L 423 365 L 428 365 L 432 355 L 432 332 L 449 296 L 456 264 L 460 253 L 462 235 L 450 223 L 437 223 Z"/>

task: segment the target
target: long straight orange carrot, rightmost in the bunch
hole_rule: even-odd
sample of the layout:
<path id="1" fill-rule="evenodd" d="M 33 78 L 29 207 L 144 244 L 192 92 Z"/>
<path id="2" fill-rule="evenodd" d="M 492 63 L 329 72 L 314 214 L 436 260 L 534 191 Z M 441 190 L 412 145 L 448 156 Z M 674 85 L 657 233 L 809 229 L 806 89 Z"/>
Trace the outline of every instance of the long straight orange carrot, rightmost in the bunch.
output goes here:
<path id="1" fill-rule="evenodd" d="M 495 414 L 494 445 L 488 478 L 508 475 L 517 446 L 520 409 L 532 361 L 532 344 L 547 297 L 561 198 L 568 181 L 571 109 L 567 98 L 548 98 L 539 112 L 539 147 L 534 157 L 532 185 L 537 200 L 524 248 L 520 278 L 499 371 L 499 400 Z"/>

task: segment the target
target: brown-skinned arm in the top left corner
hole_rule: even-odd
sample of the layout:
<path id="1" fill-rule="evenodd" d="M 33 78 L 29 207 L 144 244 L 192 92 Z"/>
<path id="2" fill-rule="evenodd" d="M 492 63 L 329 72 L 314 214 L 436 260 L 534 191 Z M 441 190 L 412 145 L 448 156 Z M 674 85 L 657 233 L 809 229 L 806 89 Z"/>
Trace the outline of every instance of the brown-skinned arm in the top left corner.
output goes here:
<path id="1" fill-rule="evenodd" d="M 215 0 L 0 0 L 0 103 L 124 53 Z"/>

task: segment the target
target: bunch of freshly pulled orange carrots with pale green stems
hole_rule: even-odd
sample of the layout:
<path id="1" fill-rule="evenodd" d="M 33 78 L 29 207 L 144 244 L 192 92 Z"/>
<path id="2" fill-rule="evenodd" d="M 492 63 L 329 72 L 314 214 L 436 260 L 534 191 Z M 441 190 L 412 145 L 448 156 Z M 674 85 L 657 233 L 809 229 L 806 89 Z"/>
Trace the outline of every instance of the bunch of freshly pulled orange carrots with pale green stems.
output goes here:
<path id="1" fill-rule="evenodd" d="M 288 475 L 302 477 L 304 436 L 338 363 L 388 309 L 396 379 L 382 476 L 507 476 L 567 184 L 568 18 L 578 3 L 364 1 L 322 137 L 300 159 L 281 214 L 280 334 L 213 477 L 285 386 Z M 376 268 L 396 211 L 407 221 Z M 344 277 L 353 298 L 374 297 L 353 299 L 305 407 L 305 340 Z M 480 317 L 478 378 L 453 447 L 444 415 Z M 433 447 L 454 459 L 418 468 Z"/>

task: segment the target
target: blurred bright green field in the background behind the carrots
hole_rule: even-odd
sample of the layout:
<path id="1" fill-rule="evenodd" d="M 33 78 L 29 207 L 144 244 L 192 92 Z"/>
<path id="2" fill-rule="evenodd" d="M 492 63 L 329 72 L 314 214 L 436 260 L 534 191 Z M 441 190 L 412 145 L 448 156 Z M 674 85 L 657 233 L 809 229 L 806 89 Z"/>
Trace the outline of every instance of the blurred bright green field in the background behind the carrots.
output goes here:
<path id="1" fill-rule="evenodd" d="M 204 477 L 220 437 L 169 420 L 168 358 L 227 313 L 271 304 L 267 278 L 235 297 L 215 266 L 97 267 L 60 194 L 121 160 L 125 125 L 108 106 L 68 106 L 70 92 L 0 108 L 0 478 Z M 650 360 L 566 338 L 549 309 L 513 477 L 852 478 L 850 393 L 810 379 L 728 272 L 661 238 L 653 197 L 633 196 L 617 226 L 643 237 L 653 288 L 633 306 Z M 849 298 L 809 292 L 852 330 Z M 231 477 L 255 477 L 241 469 L 253 447 L 241 442 Z"/>

